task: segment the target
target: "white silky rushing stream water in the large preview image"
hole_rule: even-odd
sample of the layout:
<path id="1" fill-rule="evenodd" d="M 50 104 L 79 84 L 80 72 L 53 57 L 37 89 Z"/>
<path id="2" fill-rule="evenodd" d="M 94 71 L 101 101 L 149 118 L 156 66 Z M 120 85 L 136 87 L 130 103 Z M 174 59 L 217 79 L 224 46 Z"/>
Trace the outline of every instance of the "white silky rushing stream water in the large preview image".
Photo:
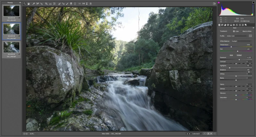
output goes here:
<path id="1" fill-rule="evenodd" d="M 156 112 L 148 96 L 145 77 L 140 79 L 140 86 L 125 85 L 131 78 L 118 77 L 110 82 L 104 92 L 103 106 L 108 118 L 121 130 L 128 131 L 186 131 L 179 123 L 167 119 Z M 136 78 L 136 79 L 137 79 Z M 111 79 L 112 80 L 112 79 Z"/>

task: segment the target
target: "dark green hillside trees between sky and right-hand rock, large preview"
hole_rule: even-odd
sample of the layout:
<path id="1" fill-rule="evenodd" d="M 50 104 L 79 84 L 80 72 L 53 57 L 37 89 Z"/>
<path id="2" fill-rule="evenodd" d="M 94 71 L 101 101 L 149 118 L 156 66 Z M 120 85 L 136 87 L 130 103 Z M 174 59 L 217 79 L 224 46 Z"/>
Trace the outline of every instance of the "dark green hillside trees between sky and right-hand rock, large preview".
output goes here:
<path id="1" fill-rule="evenodd" d="M 158 51 L 169 38 L 209 21 L 212 21 L 211 7 L 167 7 L 158 13 L 151 12 L 148 22 L 138 32 L 140 38 L 125 44 L 116 70 L 153 67 Z"/>

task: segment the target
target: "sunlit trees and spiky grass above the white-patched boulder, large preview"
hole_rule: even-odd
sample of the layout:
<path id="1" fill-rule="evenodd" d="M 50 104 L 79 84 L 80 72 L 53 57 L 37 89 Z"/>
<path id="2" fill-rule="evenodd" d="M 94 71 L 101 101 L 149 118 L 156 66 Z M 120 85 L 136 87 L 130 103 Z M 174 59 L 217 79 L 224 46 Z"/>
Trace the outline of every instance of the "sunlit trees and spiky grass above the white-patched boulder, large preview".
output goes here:
<path id="1" fill-rule="evenodd" d="M 80 66 L 97 69 L 114 68 L 114 37 L 111 31 L 121 26 L 118 22 L 123 7 L 44 7 L 37 8 L 27 38 L 43 36 L 44 45 L 59 49 L 77 58 Z M 32 8 L 26 8 L 29 15 Z M 111 17 L 112 16 L 112 17 Z M 107 18 L 111 18 L 111 20 Z M 40 39 L 42 40 L 42 39 Z M 42 43 L 40 43 L 42 44 Z M 109 63 L 105 63 L 105 62 Z"/>

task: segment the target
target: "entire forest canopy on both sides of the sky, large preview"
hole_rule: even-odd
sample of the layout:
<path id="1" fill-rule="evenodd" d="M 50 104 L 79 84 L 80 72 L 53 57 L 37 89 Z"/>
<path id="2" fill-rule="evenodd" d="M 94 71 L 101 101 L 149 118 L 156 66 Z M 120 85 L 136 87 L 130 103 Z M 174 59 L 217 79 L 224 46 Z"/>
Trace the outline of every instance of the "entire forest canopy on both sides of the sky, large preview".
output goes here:
<path id="1" fill-rule="evenodd" d="M 168 7 L 151 12 L 132 41 L 116 40 L 112 32 L 124 17 L 122 7 L 27 8 L 27 39 L 39 39 L 68 53 L 90 69 L 132 71 L 151 68 L 158 51 L 172 36 L 212 21 L 210 7 Z M 137 15 L 134 15 L 137 16 Z M 111 18 L 109 20 L 108 18 Z M 126 35 L 125 32 L 123 35 Z M 31 37 L 33 36 L 33 37 Z"/>

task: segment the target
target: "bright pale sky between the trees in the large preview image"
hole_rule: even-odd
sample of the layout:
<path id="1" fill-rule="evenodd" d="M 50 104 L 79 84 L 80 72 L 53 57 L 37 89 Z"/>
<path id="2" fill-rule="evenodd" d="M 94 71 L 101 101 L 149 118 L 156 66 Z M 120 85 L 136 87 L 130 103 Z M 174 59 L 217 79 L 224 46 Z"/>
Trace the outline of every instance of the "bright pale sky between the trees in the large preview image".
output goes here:
<path id="1" fill-rule="evenodd" d="M 140 7 L 140 29 L 147 23 L 149 13 L 155 12 L 158 13 L 158 7 Z M 138 27 L 138 7 L 126 7 L 123 9 L 124 17 L 117 19 L 118 22 L 122 22 L 122 27 L 116 27 L 116 31 L 113 31 L 112 34 L 116 40 L 130 41 L 137 37 Z"/>

